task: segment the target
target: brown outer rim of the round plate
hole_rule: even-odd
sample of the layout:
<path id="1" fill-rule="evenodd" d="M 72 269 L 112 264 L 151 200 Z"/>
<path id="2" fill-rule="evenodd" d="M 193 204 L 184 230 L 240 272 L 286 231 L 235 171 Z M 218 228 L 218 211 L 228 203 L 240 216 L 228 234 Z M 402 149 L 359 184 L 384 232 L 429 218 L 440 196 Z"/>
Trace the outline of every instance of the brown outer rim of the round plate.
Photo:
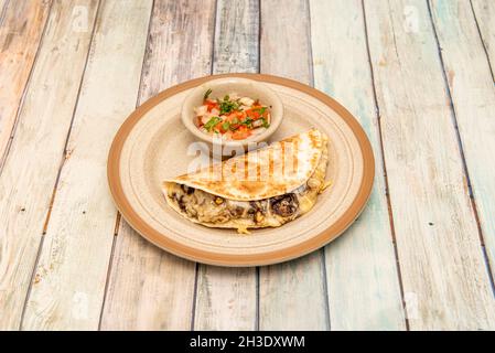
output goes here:
<path id="1" fill-rule="evenodd" d="M 344 119 L 344 121 L 351 127 L 356 139 L 359 143 L 361 151 L 363 153 L 363 179 L 361 182 L 359 190 L 357 192 L 356 197 L 353 203 L 348 207 L 348 210 L 329 228 L 324 232 L 313 236 L 312 238 L 288 248 L 283 248 L 280 250 L 267 252 L 263 254 L 217 254 L 212 252 L 205 252 L 201 249 L 196 249 L 184 244 L 177 243 L 166 236 L 166 234 L 162 234 L 147 224 L 139 214 L 132 208 L 132 205 L 127 200 L 122 184 L 120 181 L 120 157 L 123 143 L 126 142 L 127 137 L 132 130 L 133 126 L 139 121 L 139 119 L 148 113 L 151 108 L 153 108 L 160 101 L 189 88 L 193 88 L 204 82 L 209 79 L 219 78 L 219 77 L 246 77 L 256 81 L 261 81 L 266 83 L 277 84 L 287 86 L 300 92 L 303 92 L 329 107 L 335 110 L 340 117 Z M 123 218 L 130 224 L 132 228 L 134 228 L 141 236 L 143 236 L 149 242 L 153 243 L 158 247 L 165 249 L 176 256 L 187 258 L 190 260 L 204 263 L 208 265 L 217 265 L 217 266 L 261 266 L 261 265 L 270 265 L 276 263 L 287 261 L 309 253 L 312 253 L 327 243 L 335 239 L 338 235 L 341 235 L 348 226 L 357 218 L 359 213 L 363 211 L 368 197 L 372 193 L 373 181 L 375 176 L 375 158 L 373 156 L 372 145 L 363 130 L 362 126 L 357 120 L 353 117 L 353 115 L 345 109 L 341 104 L 338 104 L 335 99 L 329 97 L 322 92 L 301 84 L 299 82 L 282 78 L 272 75 L 266 74 L 222 74 L 222 75 L 209 75 L 205 77 L 194 78 L 182 83 L 180 85 L 168 88 L 157 96 L 150 98 L 141 106 L 139 106 L 122 124 L 120 129 L 118 130 L 116 137 L 114 138 L 114 142 L 111 143 L 109 153 L 108 153 L 108 163 L 107 163 L 107 176 L 108 184 L 110 186 L 110 192 L 114 197 L 114 202 L 123 216 Z"/>

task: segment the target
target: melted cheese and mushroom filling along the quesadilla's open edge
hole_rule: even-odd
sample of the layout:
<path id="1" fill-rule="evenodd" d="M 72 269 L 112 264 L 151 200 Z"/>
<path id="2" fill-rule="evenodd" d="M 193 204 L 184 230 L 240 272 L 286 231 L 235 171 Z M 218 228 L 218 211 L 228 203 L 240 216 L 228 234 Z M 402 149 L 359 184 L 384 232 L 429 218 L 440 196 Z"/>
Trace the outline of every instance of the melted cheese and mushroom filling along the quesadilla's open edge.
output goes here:
<path id="1" fill-rule="evenodd" d="M 281 221 L 295 218 L 300 212 L 299 199 L 309 188 L 304 184 L 291 193 L 259 201 L 235 201 L 175 183 L 169 189 L 169 197 L 183 213 L 200 222 L 218 224 L 244 218 L 262 224 L 273 216 Z"/>

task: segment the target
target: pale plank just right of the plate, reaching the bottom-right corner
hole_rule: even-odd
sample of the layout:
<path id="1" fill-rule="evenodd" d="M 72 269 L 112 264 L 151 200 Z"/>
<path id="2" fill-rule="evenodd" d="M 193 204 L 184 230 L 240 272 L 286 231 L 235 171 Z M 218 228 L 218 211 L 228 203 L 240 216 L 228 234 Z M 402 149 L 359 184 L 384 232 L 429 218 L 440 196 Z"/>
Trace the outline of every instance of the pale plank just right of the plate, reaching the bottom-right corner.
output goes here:
<path id="1" fill-rule="evenodd" d="M 427 3 L 374 1 L 365 10 L 410 328 L 494 329 L 494 297 Z"/>

